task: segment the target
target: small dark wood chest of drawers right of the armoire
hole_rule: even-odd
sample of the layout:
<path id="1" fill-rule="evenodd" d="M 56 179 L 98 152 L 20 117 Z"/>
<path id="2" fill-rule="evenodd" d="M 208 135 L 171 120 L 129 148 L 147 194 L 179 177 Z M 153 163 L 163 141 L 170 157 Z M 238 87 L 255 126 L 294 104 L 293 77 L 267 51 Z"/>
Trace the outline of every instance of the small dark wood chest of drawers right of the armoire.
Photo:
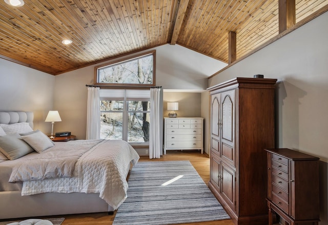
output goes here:
<path id="1" fill-rule="evenodd" d="M 288 148 L 268 152 L 269 225 L 276 212 L 289 224 L 319 220 L 319 158 Z"/>

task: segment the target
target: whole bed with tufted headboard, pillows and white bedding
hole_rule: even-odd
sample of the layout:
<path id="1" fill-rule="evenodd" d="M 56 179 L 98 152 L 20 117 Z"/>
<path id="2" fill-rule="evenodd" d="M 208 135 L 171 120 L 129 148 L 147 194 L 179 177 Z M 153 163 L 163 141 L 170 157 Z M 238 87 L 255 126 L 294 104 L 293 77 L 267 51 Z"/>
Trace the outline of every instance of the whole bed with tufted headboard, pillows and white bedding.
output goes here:
<path id="1" fill-rule="evenodd" d="M 16 138 L 32 150 L 4 152 Z M 0 219 L 113 212 L 139 159 L 125 141 L 52 142 L 23 111 L 0 112 L 0 145 Z"/>

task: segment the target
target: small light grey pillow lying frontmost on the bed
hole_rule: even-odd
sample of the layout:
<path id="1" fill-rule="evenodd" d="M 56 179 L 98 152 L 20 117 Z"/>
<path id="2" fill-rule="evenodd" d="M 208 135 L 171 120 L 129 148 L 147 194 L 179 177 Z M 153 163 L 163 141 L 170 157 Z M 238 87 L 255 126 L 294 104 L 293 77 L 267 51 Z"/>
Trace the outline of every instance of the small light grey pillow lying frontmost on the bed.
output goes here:
<path id="1" fill-rule="evenodd" d="M 21 134 L 21 137 L 38 153 L 54 146 L 53 141 L 47 135 L 40 132 L 40 130 L 35 130 L 35 132 L 27 135 Z"/>

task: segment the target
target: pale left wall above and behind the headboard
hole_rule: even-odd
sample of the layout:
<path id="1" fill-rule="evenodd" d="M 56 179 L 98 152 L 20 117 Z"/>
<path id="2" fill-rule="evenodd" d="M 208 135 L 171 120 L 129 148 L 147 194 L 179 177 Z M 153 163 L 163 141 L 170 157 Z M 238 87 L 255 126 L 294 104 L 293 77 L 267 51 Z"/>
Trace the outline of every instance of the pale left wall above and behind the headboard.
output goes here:
<path id="1" fill-rule="evenodd" d="M 4 59 L 0 68 L 0 111 L 33 111 L 34 129 L 50 134 L 54 76 Z"/>

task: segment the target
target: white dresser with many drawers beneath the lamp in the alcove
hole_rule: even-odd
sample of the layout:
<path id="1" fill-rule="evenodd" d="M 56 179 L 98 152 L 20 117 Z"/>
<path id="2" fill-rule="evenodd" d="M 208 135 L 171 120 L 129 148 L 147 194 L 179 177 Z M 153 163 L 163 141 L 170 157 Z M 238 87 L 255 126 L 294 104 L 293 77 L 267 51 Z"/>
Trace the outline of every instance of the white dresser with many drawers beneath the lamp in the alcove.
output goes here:
<path id="1" fill-rule="evenodd" d="M 200 149 L 203 153 L 203 118 L 164 118 L 164 155 L 167 150 Z"/>

